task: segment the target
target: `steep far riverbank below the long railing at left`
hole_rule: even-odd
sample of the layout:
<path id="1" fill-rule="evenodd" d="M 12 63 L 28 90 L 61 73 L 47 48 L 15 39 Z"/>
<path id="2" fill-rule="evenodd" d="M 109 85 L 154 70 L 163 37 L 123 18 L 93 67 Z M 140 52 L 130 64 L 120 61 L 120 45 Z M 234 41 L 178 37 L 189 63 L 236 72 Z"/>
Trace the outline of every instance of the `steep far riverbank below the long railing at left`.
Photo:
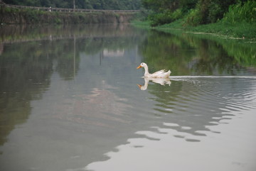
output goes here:
<path id="1" fill-rule="evenodd" d="M 95 11 L 88 13 L 38 11 L 0 6 L 3 24 L 74 24 L 74 23 L 129 23 L 136 13 Z"/>

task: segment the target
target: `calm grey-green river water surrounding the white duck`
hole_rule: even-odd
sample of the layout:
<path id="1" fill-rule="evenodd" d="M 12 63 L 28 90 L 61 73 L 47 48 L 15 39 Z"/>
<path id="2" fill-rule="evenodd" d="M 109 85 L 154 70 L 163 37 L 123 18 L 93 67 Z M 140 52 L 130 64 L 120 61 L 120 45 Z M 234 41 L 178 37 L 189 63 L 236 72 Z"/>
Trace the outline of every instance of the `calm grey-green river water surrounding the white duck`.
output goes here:
<path id="1" fill-rule="evenodd" d="M 0 33 L 0 170 L 256 170 L 255 44 L 129 25 Z M 142 78 L 142 61 L 170 79 Z"/>

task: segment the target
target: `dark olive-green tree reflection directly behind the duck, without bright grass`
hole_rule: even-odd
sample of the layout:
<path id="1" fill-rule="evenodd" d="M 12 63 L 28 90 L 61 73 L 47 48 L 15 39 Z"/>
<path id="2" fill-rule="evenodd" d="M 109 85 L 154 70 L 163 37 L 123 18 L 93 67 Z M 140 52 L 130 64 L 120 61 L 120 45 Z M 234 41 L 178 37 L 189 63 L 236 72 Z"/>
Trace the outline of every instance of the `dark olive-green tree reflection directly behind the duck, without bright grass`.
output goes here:
<path id="1" fill-rule="evenodd" d="M 191 35 L 151 31 L 140 50 L 149 67 L 170 69 L 172 75 L 234 74 L 240 70 L 238 61 L 220 43 Z"/>

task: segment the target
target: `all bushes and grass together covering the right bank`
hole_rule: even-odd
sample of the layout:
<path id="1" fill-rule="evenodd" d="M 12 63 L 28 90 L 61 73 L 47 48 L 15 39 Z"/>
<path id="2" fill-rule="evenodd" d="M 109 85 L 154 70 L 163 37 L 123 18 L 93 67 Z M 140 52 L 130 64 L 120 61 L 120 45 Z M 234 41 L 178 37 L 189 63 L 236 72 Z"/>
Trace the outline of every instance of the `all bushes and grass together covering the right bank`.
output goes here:
<path id="1" fill-rule="evenodd" d="M 255 0 L 142 0 L 142 5 L 149 16 L 134 22 L 137 26 L 256 40 Z"/>

